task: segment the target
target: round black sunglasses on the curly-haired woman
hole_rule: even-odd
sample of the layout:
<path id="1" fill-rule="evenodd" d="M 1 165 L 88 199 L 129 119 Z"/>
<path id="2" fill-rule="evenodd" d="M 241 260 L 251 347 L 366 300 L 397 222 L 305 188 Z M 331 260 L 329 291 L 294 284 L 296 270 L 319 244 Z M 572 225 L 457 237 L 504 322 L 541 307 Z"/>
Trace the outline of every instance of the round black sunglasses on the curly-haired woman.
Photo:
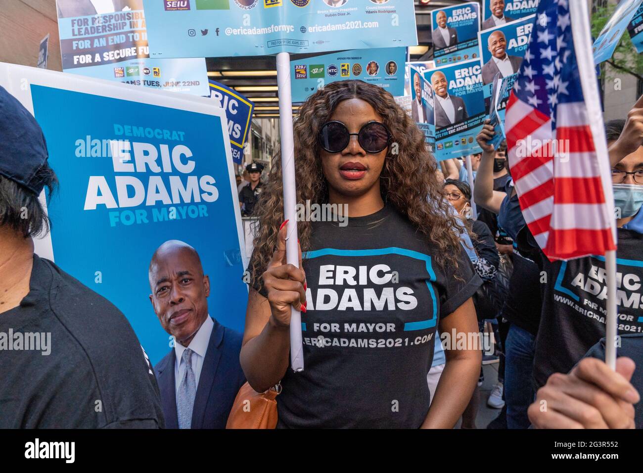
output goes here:
<path id="1" fill-rule="evenodd" d="M 328 153 L 339 153 L 349 145 L 350 137 L 356 135 L 359 145 L 370 154 L 384 151 L 391 140 L 391 133 L 386 125 L 372 120 L 359 129 L 359 133 L 349 133 L 345 124 L 331 120 L 321 127 L 320 146 Z"/>

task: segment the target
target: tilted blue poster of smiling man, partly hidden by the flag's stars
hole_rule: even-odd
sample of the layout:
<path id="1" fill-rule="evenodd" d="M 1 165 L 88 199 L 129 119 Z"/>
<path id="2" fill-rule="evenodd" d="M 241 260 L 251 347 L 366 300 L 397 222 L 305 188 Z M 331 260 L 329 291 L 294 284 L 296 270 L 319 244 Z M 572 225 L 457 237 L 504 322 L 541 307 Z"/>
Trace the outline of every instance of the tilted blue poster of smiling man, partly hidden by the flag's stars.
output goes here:
<path id="1" fill-rule="evenodd" d="M 496 73 L 500 73 L 500 79 L 503 79 L 506 86 L 506 91 L 498 102 L 498 116 L 502 122 L 505 120 L 505 107 L 507 100 L 509 100 L 509 94 L 514 80 L 518 77 L 523 56 L 529 46 L 529 37 L 535 20 L 536 15 L 530 15 L 511 23 L 489 28 L 478 34 L 482 84 L 487 109 Z"/>

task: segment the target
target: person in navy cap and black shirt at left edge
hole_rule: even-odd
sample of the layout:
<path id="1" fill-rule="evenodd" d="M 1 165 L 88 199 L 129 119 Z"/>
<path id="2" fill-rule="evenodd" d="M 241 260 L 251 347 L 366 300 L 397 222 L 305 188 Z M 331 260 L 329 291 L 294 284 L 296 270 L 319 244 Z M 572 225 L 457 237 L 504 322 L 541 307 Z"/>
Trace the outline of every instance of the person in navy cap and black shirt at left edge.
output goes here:
<path id="1" fill-rule="evenodd" d="M 33 252 L 45 187 L 57 178 L 41 127 L 0 87 L 0 429 L 164 427 L 125 316 Z"/>

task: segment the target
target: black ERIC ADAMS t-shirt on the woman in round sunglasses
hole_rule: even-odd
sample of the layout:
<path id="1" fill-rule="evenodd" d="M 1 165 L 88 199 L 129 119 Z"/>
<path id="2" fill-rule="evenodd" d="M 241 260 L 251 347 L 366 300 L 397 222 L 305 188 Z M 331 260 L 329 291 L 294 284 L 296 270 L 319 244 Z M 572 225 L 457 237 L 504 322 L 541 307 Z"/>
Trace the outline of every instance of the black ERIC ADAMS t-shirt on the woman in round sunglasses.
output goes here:
<path id="1" fill-rule="evenodd" d="M 390 206 L 345 227 L 313 222 L 304 370 L 282 380 L 278 427 L 420 427 L 439 320 L 482 284 L 459 250 L 458 268 L 441 268 Z"/>

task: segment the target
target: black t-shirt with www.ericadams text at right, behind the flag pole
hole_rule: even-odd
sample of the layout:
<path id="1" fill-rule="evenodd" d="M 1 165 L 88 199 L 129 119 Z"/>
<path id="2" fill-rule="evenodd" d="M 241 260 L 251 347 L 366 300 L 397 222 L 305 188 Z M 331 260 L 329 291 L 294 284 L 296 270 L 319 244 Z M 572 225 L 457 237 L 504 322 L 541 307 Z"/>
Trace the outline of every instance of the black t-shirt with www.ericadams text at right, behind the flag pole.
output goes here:
<path id="1" fill-rule="evenodd" d="M 617 257 L 618 333 L 643 333 L 643 234 L 619 228 Z M 552 373 L 568 373 L 605 337 L 605 260 L 591 256 L 549 263 L 536 337 L 536 386 Z"/>

